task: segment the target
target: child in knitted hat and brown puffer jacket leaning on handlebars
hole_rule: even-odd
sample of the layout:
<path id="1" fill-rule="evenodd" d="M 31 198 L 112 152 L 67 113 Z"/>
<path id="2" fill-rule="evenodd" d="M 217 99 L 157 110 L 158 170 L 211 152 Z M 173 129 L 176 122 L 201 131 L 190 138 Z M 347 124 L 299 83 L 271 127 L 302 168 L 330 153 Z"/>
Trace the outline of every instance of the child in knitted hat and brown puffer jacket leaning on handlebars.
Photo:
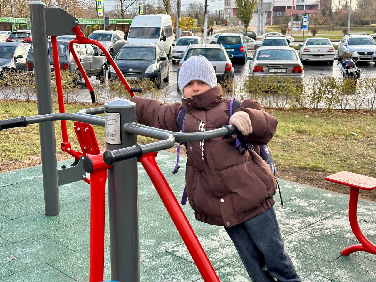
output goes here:
<path id="1" fill-rule="evenodd" d="M 177 114 L 186 112 L 184 132 L 199 132 L 233 124 L 254 144 L 255 151 L 240 153 L 233 138 L 187 142 L 186 191 L 196 219 L 221 225 L 254 282 L 300 282 L 284 251 L 274 213 L 276 182 L 258 155 L 257 144 L 273 137 L 277 120 L 255 100 L 244 100 L 229 118 L 230 99 L 222 97 L 213 66 L 203 56 L 192 56 L 179 72 L 182 103 L 132 97 L 137 121 L 179 132 Z M 273 278 L 274 277 L 274 278 Z"/>

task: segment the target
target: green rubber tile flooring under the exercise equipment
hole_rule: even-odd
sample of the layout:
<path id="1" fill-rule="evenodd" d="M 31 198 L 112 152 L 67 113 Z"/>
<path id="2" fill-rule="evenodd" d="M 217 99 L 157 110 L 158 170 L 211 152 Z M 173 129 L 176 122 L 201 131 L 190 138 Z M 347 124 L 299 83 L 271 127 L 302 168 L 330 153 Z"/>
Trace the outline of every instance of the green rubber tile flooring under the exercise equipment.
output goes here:
<path id="1" fill-rule="evenodd" d="M 171 174 L 176 154 L 156 158 L 180 203 L 185 161 Z M 71 160 L 59 162 L 70 164 Z M 142 165 L 139 169 L 139 246 L 142 282 L 203 282 L 188 250 Z M 88 282 L 90 189 L 60 186 L 61 214 L 44 215 L 41 167 L 0 174 L 0 282 Z M 357 244 L 348 221 L 349 197 L 279 179 L 274 209 L 285 249 L 303 282 L 375 282 L 376 255 L 341 256 Z M 224 227 L 199 222 L 181 206 L 222 282 L 250 282 Z M 105 209 L 105 280 L 111 279 L 108 194 Z M 359 225 L 376 243 L 376 203 L 359 200 Z M 124 219 L 126 220 L 126 219 Z M 17 259 L 12 259 L 17 257 Z"/>

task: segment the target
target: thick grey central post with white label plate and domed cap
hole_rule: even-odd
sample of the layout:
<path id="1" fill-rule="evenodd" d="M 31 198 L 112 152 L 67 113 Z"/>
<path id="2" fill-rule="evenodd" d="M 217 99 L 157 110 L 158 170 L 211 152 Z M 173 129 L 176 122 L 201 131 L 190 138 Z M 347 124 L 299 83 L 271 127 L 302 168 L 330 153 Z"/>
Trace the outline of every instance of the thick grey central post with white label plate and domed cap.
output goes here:
<path id="1" fill-rule="evenodd" d="M 133 146 L 136 135 L 123 130 L 136 121 L 136 104 L 124 99 L 105 104 L 107 150 Z M 137 160 L 115 163 L 108 170 L 111 279 L 139 282 Z"/>

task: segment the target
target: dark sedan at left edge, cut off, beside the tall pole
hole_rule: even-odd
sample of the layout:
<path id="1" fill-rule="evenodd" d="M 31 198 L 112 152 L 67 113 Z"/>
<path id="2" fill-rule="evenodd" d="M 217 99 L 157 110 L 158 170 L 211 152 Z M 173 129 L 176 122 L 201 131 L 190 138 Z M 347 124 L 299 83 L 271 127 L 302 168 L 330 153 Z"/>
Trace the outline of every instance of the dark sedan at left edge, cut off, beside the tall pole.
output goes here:
<path id="1" fill-rule="evenodd" d="M 26 57 L 30 44 L 18 42 L 0 43 L 0 76 L 3 71 L 26 71 Z"/>

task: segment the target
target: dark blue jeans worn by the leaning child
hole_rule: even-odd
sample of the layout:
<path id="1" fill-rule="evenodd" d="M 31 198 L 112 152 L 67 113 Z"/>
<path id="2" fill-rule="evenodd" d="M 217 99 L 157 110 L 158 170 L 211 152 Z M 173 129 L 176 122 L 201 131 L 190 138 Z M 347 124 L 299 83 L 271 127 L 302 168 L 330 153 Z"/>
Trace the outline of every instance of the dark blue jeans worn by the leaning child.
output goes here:
<path id="1" fill-rule="evenodd" d="M 275 282 L 274 278 L 278 282 L 301 281 L 284 250 L 273 207 L 225 229 L 253 282 Z"/>

